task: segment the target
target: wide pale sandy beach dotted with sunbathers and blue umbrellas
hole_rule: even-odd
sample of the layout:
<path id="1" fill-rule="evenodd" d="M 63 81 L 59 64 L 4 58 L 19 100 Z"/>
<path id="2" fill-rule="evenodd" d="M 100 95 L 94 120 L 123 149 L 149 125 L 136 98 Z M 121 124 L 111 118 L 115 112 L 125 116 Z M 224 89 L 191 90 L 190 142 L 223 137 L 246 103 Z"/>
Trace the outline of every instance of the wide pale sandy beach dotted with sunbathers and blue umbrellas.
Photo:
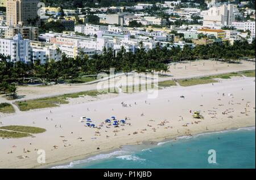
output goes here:
<path id="1" fill-rule="evenodd" d="M 255 68 L 253 62 L 246 63 L 237 69 Z M 180 66 L 184 67 L 183 64 Z M 198 76 L 196 71 L 193 73 L 191 70 L 189 74 Z M 172 72 L 177 74 L 176 78 L 188 75 L 179 75 L 175 70 Z M 205 74 L 211 72 L 214 70 L 205 70 Z M 181 135 L 255 126 L 255 78 L 242 76 L 223 79 L 214 85 L 165 88 L 158 91 L 157 98 L 152 99 L 148 99 L 147 95 L 120 93 L 97 101 L 73 102 L 58 108 L 6 115 L 1 118 L 1 126 L 36 126 L 47 131 L 35 135 L 35 138 L 1 139 L 0 168 L 44 168 L 118 149 L 120 145 L 159 142 Z M 127 107 L 122 104 L 127 104 Z M 204 119 L 192 117 L 197 110 Z M 127 118 L 126 124 L 114 127 L 104 123 L 113 115 L 118 120 Z M 100 129 L 86 127 L 85 122 L 80 122 L 82 116 L 92 119 L 92 123 Z M 24 149 L 30 152 L 23 152 Z M 46 151 L 46 164 L 38 164 L 37 149 Z M 10 151 L 13 153 L 8 153 Z M 27 157 L 20 159 L 17 156 Z"/>

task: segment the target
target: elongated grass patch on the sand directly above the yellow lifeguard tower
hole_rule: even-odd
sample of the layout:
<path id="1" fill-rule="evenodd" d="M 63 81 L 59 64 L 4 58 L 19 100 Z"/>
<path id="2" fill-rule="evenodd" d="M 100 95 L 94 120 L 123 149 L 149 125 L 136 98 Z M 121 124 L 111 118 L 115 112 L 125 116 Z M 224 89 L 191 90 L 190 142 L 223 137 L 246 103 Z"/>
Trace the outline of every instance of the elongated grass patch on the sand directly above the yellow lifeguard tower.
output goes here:
<path id="1" fill-rule="evenodd" d="M 217 80 L 210 79 L 209 77 L 203 77 L 203 78 L 192 78 L 192 79 L 180 79 L 180 80 L 177 80 L 177 82 L 181 86 L 191 86 L 191 85 L 197 85 L 197 84 L 216 83 Z"/>

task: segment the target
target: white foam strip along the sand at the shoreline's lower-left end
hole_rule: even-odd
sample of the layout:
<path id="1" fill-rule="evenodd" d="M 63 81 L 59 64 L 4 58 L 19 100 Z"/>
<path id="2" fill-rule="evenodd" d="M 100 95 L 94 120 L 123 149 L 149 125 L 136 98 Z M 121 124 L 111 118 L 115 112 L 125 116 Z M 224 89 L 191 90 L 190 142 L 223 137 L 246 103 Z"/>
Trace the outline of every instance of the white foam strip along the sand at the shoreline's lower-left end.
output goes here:
<path id="1" fill-rule="evenodd" d="M 126 151 L 114 151 L 114 152 L 108 153 L 108 154 L 100 154 L 100 155 L 96 155 L 96 156 L 93 156 L 93 157 L 89 157 L 85 160 L 78 160 L 78 161 L 70 162 L 68 165 L 55 166 L 55 167 L 52 167 L 51 169 L 72 168 L 73 166 L 75 166 L 77 164 L 83 164 L 83 163 L 86 163 L 86 162 L 92 162 L 92 161 L 96 161 L 96 160 L 103 160 L 103 159 L 110 158 L 110 157 L 113 157 L 113 156 L 123 155 L 125 153 L 127 153 L 127 152 Z"/>

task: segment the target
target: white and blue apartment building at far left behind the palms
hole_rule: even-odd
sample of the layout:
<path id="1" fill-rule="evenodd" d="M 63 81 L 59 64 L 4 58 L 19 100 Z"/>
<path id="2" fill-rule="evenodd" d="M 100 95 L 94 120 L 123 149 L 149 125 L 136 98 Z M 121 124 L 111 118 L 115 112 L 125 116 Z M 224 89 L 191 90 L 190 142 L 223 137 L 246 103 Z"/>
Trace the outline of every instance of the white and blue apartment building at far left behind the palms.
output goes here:
<path id="1" fill-rule="evenodd" d="M 13 62 L 30 62 L 30 40 L 23 40 L 20 34 L 13 39 L 0 38 L 0 54 L 10 55 Z"/>

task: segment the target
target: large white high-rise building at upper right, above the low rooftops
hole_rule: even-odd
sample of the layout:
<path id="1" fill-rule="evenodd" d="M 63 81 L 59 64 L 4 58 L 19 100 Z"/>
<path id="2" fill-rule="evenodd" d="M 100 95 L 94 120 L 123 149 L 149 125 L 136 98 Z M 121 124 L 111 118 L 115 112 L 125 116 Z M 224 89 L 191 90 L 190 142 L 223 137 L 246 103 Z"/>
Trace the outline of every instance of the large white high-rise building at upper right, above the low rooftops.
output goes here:
<path id="1" fill-rule="evenodd" d="M 210 7 L 204 15 L 204 26 L 207 25 L 231 25 L 235 20 L 234 5 L 222 5 Z"/>

